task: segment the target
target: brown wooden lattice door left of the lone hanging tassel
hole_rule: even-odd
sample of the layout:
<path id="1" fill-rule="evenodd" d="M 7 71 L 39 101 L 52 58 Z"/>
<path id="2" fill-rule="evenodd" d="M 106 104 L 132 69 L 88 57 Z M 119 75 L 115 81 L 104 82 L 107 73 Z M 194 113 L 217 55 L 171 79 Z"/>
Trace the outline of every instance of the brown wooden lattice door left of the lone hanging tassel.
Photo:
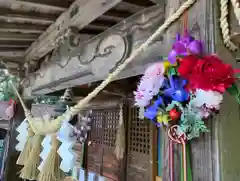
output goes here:
<path id="1" fill-rule="evenodd" d="M 93 110 L 87 168 L 109 181 L 119 180 L 120 163 L 114 156 L 118 120 L 119 108 Z"/>

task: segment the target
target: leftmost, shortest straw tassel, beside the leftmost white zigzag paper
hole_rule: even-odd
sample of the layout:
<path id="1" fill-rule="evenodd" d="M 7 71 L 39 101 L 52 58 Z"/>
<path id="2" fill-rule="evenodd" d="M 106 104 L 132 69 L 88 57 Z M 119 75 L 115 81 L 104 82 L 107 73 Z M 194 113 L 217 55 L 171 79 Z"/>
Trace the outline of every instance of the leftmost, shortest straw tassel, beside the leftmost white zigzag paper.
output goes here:
<path id="1" fill-rule="evenodd" d="M 27 141 L 25 143 L 24 149 L 23 151 L 20 153 L 18 160 L 17 160 L 17 164 L 18 165 L 25 165 L 26 160 L 29 157 L 29 153 L 32 149 L 32 139 L 33 139 L 34 133 L 32 131 L 31 128 L 28 128 L 28 137 L 27 137 Z"/>

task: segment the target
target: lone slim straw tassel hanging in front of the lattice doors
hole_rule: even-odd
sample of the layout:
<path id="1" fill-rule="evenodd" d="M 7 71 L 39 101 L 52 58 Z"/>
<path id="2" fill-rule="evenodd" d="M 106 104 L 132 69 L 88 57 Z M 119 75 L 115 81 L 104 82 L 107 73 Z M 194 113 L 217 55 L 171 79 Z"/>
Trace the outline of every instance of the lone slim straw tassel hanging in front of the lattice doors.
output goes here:
<path id="1" fill-rule="evenodd" d="M 125 127 L 123 121 L 123 105 L 120 104 L 119 125 L 117 131 L 116 148 L 114 150 L 118 160 L 123 159 L 125 153 Z"/>

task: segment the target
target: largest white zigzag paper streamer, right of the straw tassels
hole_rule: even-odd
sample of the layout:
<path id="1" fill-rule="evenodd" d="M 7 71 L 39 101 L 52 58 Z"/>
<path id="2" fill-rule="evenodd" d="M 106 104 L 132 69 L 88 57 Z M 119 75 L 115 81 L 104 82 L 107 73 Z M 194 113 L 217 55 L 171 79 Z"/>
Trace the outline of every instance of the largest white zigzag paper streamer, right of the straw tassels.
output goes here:
<path id="1" fill-rule="evenodd" d="M 77 139 L 77 137 L 72 136 L 73 131 L 73 126 L 69 124 L 68 121 L 65 121 L 62 123 L 57 136 L 57 139 L 61 142 L 58 149 L 58 154 L 62 158 L 60 169 L 64 172 L 69 172 L 77 159 L 77 155 L 72 149 Z"/>

